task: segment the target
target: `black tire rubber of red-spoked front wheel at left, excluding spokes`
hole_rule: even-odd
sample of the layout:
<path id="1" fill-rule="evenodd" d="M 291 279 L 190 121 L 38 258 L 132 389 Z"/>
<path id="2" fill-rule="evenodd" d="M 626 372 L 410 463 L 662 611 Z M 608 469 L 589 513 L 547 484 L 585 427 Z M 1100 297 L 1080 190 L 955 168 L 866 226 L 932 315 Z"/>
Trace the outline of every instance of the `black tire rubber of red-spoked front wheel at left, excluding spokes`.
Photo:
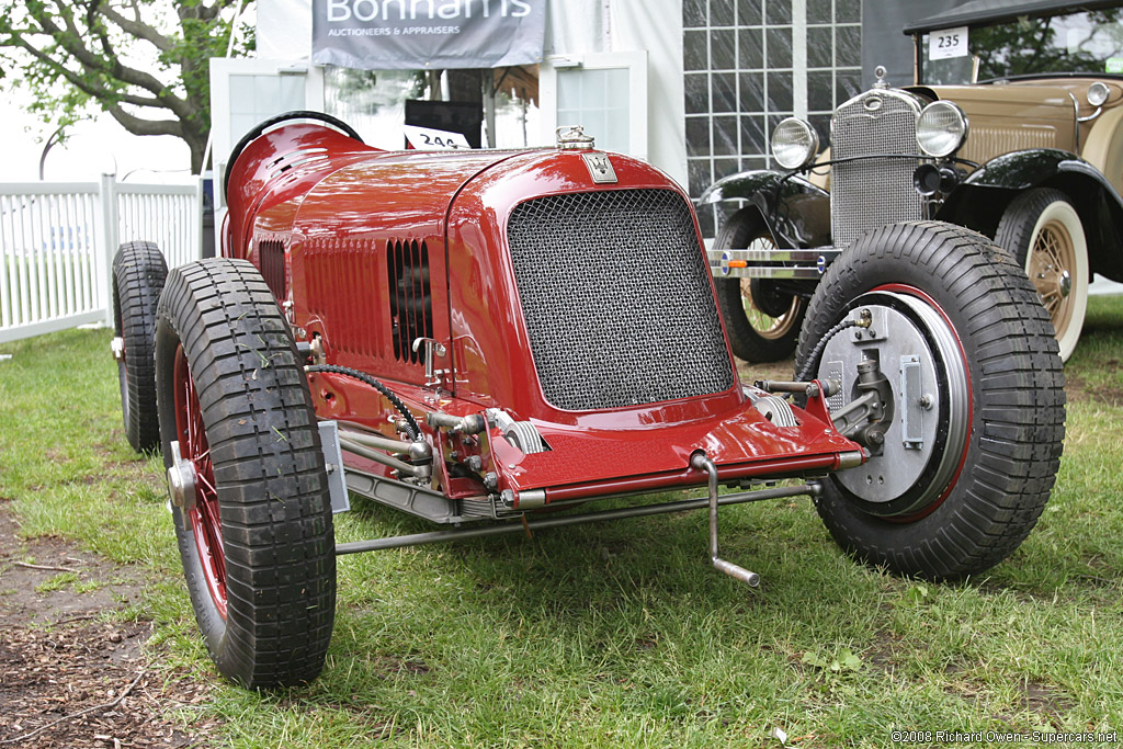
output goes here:
<path id="1" fill-rule="evenodd" d="M 334 625 L 335 541 L 316 415 L 286 323 L 245 261 L 176 268 L 161 307 L 183 336 L 219 492 L 228 615 L 208 647 L 245 686 L 309 682 Z M 192 597 L 197 613 L 210 603 Z"/>

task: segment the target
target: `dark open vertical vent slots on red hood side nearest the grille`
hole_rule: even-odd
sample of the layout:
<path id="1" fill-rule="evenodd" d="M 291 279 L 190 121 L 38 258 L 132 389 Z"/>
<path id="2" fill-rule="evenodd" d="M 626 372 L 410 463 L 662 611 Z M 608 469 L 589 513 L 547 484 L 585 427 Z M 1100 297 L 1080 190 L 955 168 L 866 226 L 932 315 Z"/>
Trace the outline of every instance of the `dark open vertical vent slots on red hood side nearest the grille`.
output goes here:
<path id="1" fill-rule="evenodd" d="M 417 363 L 418 338 L 432 338 L 432 296 L 429 293 L 429 248 L 422 241 L 386 243 L 386 277 L 390 278 L 390 325 L 394 357 Z"/>

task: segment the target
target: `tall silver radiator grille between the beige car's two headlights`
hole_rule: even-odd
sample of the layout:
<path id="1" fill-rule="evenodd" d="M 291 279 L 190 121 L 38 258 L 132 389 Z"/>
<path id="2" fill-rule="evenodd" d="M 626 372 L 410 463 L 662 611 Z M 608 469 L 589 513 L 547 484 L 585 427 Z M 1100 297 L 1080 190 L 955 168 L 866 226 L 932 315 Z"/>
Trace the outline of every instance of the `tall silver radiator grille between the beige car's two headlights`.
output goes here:
<path id="1" fill-rule="evenodd" d="M 831 128 L 831 157 L 915 154 L 916 112 L 895 97 L 868 111 L 864 100 L 839 107 Z M 844 247 L 868 229 L 916 221 L 924 205 L 913 188 L 916 158 L 870 158 L 831 166 L 831 231 Z"/>

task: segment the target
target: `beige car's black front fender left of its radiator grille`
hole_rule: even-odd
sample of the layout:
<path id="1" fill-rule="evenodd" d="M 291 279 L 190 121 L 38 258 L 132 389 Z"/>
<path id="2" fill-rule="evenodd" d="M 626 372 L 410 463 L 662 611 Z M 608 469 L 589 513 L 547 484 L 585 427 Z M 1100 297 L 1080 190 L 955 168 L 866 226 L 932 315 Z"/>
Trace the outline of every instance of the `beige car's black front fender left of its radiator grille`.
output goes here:
<path id="1" fill-rule="evenodd" d="M 739 172 L 718 180 L 697 200 L 699 208 L 725 201 L 755 205 L 777 247 L 831 244 L 831 197 L 803 177 L 768 170 Z"/>

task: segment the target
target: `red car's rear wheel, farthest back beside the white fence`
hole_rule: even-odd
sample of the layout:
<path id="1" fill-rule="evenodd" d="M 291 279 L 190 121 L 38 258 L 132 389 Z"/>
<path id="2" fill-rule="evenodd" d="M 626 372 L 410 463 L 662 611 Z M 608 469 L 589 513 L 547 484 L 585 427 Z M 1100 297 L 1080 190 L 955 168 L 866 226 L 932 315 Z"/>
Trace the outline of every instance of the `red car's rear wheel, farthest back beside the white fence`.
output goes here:
<path id="1" fill-rule="evenodd" d="M 138 453 L 159 445 L 156 412 L 156 302 L 167 265 L 150 241 L 127 241 L 113 257 L 113 335 L 125 437 Z"/>

